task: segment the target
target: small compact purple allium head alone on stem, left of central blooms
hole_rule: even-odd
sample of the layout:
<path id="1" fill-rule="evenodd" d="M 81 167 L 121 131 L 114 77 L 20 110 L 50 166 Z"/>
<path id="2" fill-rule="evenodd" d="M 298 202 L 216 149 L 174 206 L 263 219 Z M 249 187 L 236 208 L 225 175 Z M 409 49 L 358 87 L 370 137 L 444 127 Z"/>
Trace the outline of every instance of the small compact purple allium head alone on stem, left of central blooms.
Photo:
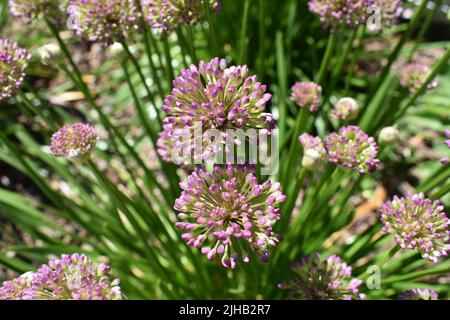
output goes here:
<path id="1" fill-rule="evenodd" d="M 97 140 L 95 128 L 90 124 L 65 125 L 53 134 L 50 150 L 55 157 L 65 157 L 75 162 L 83 162 L 91 155 Z"/>

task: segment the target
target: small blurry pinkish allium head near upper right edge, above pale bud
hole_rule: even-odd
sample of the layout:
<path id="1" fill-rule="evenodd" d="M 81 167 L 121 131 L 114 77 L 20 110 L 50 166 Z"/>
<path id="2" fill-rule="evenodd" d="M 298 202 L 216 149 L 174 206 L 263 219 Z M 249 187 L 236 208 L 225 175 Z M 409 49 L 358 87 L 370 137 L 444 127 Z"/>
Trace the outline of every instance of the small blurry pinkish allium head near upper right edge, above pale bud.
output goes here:
<path id="1" fill-rule="evenodd" d="M 410 63 L 401 66 L 398 71 L 400 85 L 414 93 L 425 83 L 430 73 L 431 69 L 423 63 Z M 430 90 L 437 85 L 437 80 L 433 80 L 427 88 Z"/>

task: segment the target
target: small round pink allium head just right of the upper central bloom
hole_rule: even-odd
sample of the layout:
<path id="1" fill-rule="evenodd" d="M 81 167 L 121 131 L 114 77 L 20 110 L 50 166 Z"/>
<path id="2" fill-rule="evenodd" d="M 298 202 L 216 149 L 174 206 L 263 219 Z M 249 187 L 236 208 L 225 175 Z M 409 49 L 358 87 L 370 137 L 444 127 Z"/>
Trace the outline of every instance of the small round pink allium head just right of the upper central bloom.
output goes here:
<path id="1" fill-rule="evenodd" d="M 314 82 L 297 82 L 291 88 L 291 100 L 299 107 L 316 112 L 322 99 L 322 87 Z"/>

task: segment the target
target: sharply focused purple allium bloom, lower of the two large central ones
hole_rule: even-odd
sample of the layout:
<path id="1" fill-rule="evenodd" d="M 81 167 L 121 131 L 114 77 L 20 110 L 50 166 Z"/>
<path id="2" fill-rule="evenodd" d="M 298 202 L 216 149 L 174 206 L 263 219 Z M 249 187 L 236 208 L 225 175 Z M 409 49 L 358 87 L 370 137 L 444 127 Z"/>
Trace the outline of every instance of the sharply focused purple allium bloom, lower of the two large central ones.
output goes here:
<path id="1" fill-rule="evenodd" d="M 182 221 L 176 227 L 209 260 L 221 256 L 224 267 L 235 268 L 239 255 L 249 261 L 250 249 L 265 262 L 269 248 L 281 241 L 272 225 L 281 218 L 279 205 L 285 196 L 278 182 L 259 184 L 254 167 L 197 168 L 180 186 L 184 191 L 174 207 Z"/>

